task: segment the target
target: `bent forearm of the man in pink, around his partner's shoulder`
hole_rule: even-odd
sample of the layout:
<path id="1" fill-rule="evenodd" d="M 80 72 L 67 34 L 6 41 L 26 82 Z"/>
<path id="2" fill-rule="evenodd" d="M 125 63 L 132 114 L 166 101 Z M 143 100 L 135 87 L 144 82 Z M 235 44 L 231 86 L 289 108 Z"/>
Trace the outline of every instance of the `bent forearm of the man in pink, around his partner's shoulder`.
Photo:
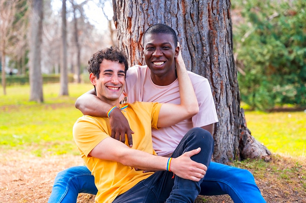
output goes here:
<path id="1" fill-rule="evenodd" d="M 113 106 L 103 102 L 95 95 L 95 91 L 91 90 L 76 99 L 75 107 L 79 109 L 83 115 L 107 117 L 108 110 Z"/>

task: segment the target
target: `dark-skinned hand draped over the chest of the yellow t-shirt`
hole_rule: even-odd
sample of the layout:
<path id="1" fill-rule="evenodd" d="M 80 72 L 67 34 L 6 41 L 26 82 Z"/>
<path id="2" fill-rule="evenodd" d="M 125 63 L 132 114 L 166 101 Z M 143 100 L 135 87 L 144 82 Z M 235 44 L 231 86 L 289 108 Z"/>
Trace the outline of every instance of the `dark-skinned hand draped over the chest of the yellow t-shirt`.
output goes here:
<path id="1" fill-rule="evenodd" d="M 110 137 L 125 143 L 126 134 L 129 147 L 133 146 L 132 134 L 134 132 L 131 130 L 128 120 L 118 108 L 114 109 L 110 114 L 110 129 Z"/>

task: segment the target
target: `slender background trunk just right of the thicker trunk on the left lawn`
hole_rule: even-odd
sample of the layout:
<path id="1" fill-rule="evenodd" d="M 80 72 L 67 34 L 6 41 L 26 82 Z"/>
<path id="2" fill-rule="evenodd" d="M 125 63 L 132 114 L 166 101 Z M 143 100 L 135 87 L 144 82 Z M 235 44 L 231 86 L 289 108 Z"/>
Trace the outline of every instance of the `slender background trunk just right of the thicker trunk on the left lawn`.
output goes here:
<path id="1" fill-rule="evenodd" d="M 68 95 L 66 0 L 62 0 L 62 63 L 59 95 Z"/>

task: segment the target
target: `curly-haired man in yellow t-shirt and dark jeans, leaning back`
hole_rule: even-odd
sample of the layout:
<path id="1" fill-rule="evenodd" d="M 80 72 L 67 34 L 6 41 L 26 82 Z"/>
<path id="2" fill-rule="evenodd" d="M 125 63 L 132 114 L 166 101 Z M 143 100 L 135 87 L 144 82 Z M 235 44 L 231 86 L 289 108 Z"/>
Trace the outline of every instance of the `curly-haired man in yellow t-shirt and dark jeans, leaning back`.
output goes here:
<path id="1" fill-rule="evenodd" d="M 171 38 L 171 36 L 166 36 Z M 170 41 L 170 40 L 169 40 Z M 96 202 L 194 202 L 209 166 L 214 141 L 202 128 L 188 131 L 171 158 L 157 156 L 152 146 L 151 128 L 171 126 L 195 115 L 198 104 L 179 53 L 174 49 L 181 103 L 134 102 L 119 104 L 128 69 L 126 56 L 110 47 L 88 61 L 91 83 L 97 96 L 120 108 L 134 126 L 133 146 L 110 137 L 108 118 L 80 117 L 73 126 L 73 137 L 98 188 Z M 160 66 L 160 64 L 156 64 Z M 201 150 L 202 149 L 202 150 Z M 144 173 L 142 170 L 157 170 Z M 175 174 L 175 176 L 174 176 Z"/>

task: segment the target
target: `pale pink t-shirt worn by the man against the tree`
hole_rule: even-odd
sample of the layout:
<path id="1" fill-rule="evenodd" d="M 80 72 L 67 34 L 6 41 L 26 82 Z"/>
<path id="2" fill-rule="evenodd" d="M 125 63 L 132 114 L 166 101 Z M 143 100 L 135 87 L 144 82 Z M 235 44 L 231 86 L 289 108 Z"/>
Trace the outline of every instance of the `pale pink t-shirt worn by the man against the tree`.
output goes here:
<path id="1" fill-rule="evenodd" d="M 177 123 L 174 126 L 152 129 L 153 148 L 160 156 L 170 154 L 177 147 L 184 135 L 192 127 L 202 127 L 218 122 L 215 103 L 208 80 L 188 71 L 200 111 L 196 116 Z M 127 102 L 159 102 L 180 104 L 178 80 L 167 86 L 158 86 L 151 80 L 151 72 L 147 66 L 133 66 L 128 69 L 125 80 Z M 131 126 L 133 130 L 133 126 Z"/>

